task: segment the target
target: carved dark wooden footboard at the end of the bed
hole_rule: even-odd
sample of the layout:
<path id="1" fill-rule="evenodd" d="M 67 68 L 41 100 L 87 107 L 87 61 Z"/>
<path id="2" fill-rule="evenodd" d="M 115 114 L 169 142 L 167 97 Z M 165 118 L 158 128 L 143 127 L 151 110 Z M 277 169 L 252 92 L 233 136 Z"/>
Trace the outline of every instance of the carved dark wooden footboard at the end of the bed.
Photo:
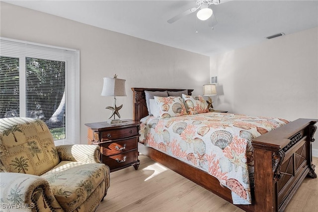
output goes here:
<path id="1" fill-rule="evenodd" d="M 284 211 L 304 178 L 317 178 L 312 163 L 316 122 L 300 118 L 252 140 L 255 211 Z"/>

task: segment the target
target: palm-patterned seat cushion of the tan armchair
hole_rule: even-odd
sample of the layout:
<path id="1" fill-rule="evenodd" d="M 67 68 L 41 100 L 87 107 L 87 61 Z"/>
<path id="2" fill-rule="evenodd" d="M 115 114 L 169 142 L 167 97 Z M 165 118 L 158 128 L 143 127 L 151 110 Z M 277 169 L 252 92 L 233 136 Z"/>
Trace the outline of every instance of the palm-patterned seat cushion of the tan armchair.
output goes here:
<path id="1" fill-rule="evenodd" d="M 101 163 L 61 161 L 43 174 L 65 211 L 74 211 L 105 181 L 108 169 Z"/>

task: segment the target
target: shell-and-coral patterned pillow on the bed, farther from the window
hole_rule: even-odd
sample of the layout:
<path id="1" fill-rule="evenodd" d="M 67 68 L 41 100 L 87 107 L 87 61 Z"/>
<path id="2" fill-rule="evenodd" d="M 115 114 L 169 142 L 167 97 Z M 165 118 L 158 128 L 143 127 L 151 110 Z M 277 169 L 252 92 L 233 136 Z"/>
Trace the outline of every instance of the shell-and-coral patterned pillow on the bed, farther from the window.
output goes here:
<path id="1" fill-rule="evenodd" d="M 189 115 L 209 112 L 208 104 L 202 96 L 192 97 L 182 94 L 182 99 Z"/>

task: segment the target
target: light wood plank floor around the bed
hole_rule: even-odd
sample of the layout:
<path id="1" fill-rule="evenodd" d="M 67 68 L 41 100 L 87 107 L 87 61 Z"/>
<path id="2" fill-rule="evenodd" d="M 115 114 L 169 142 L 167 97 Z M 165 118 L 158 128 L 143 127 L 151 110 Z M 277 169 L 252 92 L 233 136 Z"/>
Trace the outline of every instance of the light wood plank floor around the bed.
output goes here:
<path id="1" fill-rule="evenodd" d="M 139 160 L 137 171 L 128 167 L 110 174 L 110 188 L 96 212 L 243 212 L 145 155 Z M 285 212 L 318 212 L 318 178 L 305 179 Z"/>

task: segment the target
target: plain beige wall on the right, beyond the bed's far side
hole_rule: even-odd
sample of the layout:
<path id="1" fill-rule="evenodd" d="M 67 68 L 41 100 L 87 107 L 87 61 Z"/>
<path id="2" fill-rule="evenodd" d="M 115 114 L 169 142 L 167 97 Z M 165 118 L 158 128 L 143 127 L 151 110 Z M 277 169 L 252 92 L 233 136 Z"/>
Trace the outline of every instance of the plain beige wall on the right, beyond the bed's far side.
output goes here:
<path id="1" fill-rule="evenodd" d="M 318 118 L 318 28 L 215 55 L 217 109 L 295 120 Z M 318 133 L 315 135 L 318 141 Z M 318 142 L 313 143 L 318 157 Z"/>

